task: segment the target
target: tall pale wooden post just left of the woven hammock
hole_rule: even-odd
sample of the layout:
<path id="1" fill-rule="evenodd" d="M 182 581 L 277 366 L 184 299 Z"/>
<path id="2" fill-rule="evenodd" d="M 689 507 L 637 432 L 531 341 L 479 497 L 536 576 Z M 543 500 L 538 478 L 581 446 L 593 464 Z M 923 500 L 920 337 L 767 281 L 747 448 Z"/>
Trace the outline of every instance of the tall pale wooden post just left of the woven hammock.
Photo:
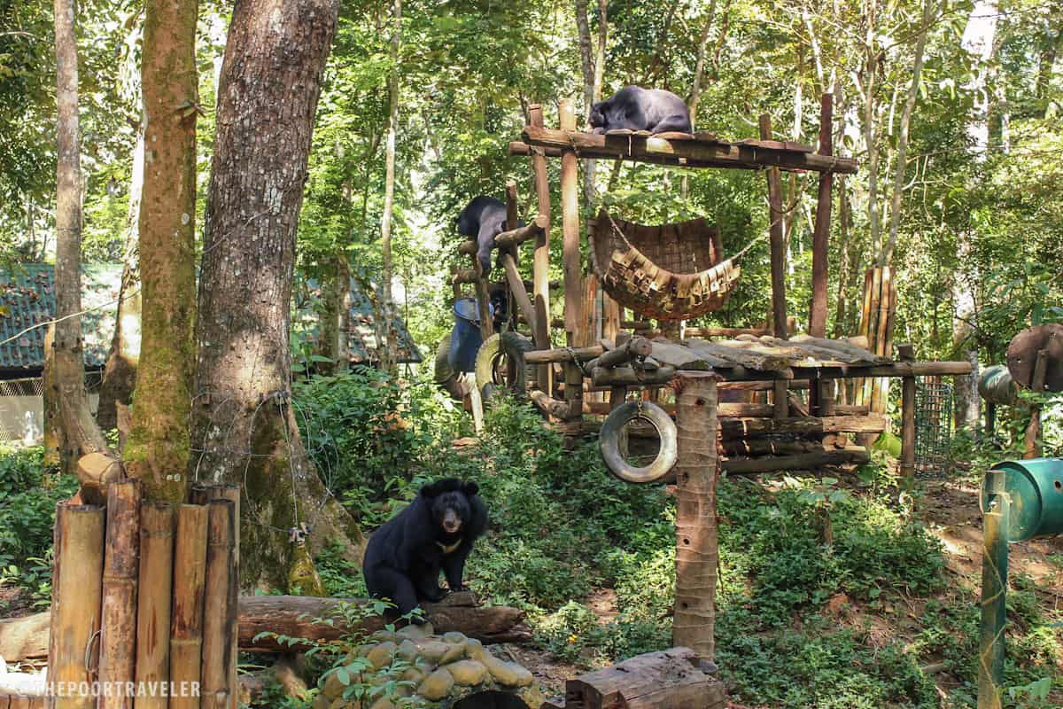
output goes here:
<path id="1" fill-rule="evenodd" d="M 576 115 L 568 99 L 558 104 L 562 131 L 576 130 Z M 561 152 L 561 227 L 563 232 L 562 267 L 564 271 L 564 338 L 576 347 L 579 324 L 583 322 L 583 277 L 579 256 L 579 170 L 576 153 Z M 576 362 L 564 364 L 564 399 L 569 402 L 569 420 L 580 419 L 584 372 Z"/>

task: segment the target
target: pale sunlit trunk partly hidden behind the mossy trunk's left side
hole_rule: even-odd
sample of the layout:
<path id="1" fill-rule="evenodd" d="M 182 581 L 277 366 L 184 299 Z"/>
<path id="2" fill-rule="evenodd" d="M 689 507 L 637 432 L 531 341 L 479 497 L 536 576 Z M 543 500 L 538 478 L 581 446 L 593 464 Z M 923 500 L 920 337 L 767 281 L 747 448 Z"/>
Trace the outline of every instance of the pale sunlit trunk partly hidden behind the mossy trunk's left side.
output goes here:
<path id="1" fill-rule="evenodd" d="M 137 243 L 140 221 L 140 197 L 144 191 L 144 121 L 137 126 L 136 149 L 133 151 L 133 174 L 130 179 L 130 206 L 126 217 L 125 258 L 122 282 L 118 289 L 115 334 L 111 352 L 103 368 L 100 404 L 96 421 L 108 431 L 118 425 L 116 403 L 129 406 L 136 386 L 136 369 L 140 357 L 140 269 Z"/>

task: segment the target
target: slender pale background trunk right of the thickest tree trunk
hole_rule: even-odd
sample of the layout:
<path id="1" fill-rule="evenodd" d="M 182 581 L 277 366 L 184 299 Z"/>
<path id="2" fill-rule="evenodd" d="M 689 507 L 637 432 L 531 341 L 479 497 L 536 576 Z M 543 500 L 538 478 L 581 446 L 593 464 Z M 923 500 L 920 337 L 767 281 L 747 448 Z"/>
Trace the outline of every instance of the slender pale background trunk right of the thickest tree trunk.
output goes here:
<path id="1" fill-rule="evenodd" d="M 377 339 L 377 344 L 383 344 L 383 356 L 381 367 L 391 373 L 399 371 L 399 343 L 395 340 L 395 332 L 391 318 L 394 313 L 394 302 L 391 297 L 391 278 L 394 267 L 391 261 L 391 219 L 394 214 L 395 195 L 395 131 L 399 125 L 399 48 L 402 41 L 402 0 L 394 0 L 392 7 L 392 20 L 394 28 L 391 31 L 391 74 L 388 78 L 388 139 L 385 147 L 385 176 L 384 176 L 384 215 L 381 218 L 381 249 L 384 251 L 384 274 L 382 284 L 381 316 L 384 322 L 385 341 Z"/>

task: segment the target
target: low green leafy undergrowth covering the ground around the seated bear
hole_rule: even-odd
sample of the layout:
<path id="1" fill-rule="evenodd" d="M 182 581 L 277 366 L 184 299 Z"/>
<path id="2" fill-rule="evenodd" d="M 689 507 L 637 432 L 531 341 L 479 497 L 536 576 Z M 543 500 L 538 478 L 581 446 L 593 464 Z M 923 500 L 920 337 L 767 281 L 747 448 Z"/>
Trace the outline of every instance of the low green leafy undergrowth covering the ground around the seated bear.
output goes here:
<path id="1" fill-rule="evenodd" d="M 367 533 L 427 480 L 476 480 L 491 526 L 467 579 L 486 601 L 524 609 L 542 649 L 592 668 L 671 645 L 675 505 L 664 486 L 617 480 L 593 441 L 567 450 L 514 401 L 495 403 L 479 443 L 463 446 L 452 441 L 471 434 L 468 416 L 426 382 L 316 377 L 298 385 L 296 404 L 322 476 Z M 39 450 L 0 456 L 0 584 L 31 603 L 47 603 L 54 505 L 74 487 Z M 842 479 L 724 477 L 718 493 L 716 661 L 736 702 L 975 705 L 978 578 L 946 568 L 918 491 L 880 459 Z M 332 595 L 365 595 L 341 548 L 317 562 Z M 1011 578 L 1007 706 L 1058 706 L 1045 696 L 1063 662 L 1063 613 L 1045 597 L 1029 577 Z"/>

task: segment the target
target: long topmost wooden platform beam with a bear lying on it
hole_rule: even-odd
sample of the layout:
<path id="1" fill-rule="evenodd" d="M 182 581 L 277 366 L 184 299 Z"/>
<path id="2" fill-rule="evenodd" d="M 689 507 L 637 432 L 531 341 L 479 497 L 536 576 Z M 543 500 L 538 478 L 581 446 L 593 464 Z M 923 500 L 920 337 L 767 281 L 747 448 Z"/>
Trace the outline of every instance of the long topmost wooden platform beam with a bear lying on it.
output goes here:
<path id="1" fill-rule="evenodd" d="M 857 163 L 850 157 L 830 157 L 798 150 L 773 150 L 759 146 L 739 146 L 702 140 L 667 140 L 660 136 L 595 135 L 577 131 L 554 131 L 526 125 L 523 141 L 544 149 L 574 150 L 580 157 L 625 158 L 687 167 L 722 167 L 757 170 L 777 167 L 782 170 L 812 170 L 855 173 Z"/>

